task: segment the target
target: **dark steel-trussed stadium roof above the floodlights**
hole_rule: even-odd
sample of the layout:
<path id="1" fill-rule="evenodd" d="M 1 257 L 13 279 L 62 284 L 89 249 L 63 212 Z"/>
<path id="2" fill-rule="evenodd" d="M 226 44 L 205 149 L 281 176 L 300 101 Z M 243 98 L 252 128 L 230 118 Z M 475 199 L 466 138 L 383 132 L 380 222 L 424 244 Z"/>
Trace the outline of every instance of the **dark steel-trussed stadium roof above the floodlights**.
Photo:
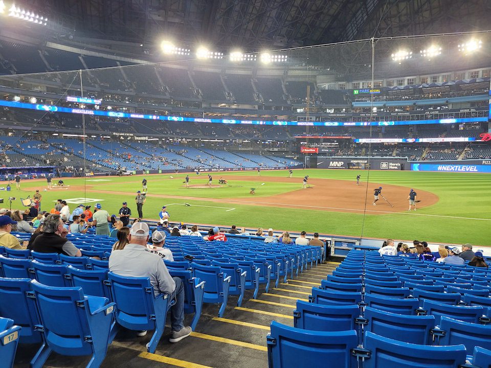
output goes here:
<path id="1" fill-rule="evenodd" d="M 23 4 L 24 3 L 24 4 Z M 487 0 L 19 0 L 73 37 L 228 52 L 489 28 Z"/>

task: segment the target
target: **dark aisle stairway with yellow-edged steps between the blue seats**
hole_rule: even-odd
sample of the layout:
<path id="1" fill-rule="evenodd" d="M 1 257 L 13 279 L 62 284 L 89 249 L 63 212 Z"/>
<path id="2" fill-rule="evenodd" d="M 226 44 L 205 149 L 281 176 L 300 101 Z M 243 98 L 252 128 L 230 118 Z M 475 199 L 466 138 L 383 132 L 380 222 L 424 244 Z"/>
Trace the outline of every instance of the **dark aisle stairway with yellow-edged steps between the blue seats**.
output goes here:
<path id="1" fill-rule="evenodd" d="M 270 332 L 271 321 L 293 326 L 297 300 L 306 301 L 311 288 L 320 286 L 321 280 L 338 265 L 337 262 L 319 263 L 304 270 L 295 280 L 280 283 L 278 288 L 272 285 L 269 292 L 260 293 L 257 300 L 253 299 L 254 290 L 246 290 L 241 307 L 236 307 L 238 295 L 231 295 L 222 318 L 217 317 L 217 305 L 204 304 L 196 331 L 175 344 L 168 341 L 170 325 L 167 320 L 155 354 L 147 353 L 145 347 L 150 331 L 145 337 L 137 337 L 134 331 L 121 329 L 109 345 L 101 367 L 266 368 L 266 334 Z M 260 291 L 264 291 L 263 285 Z M 190 317 L 186 317 L 185 325 L 191 323 Z M 19 345 L 15 367 L 27 368 L 37 348 L 36 344 Z M 53 353 L 45 366 L 82 368 L 88 359 Z"/>

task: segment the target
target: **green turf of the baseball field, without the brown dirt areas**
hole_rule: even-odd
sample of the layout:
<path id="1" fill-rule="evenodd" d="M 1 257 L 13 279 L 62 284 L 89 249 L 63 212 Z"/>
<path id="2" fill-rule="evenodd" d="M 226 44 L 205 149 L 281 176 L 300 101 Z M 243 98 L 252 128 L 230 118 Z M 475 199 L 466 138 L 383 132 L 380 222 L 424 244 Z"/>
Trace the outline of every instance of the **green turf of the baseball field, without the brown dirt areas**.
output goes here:
<path id="1" fill-rule="evenodd" d="M 417 190 L 432 192 L 439 201 L 426 208 L 418 209 L 417 213 L 394 213 L 386 215 L 358 214 L 346 212 L 328 212 L 318 210 L 303 210 L 289 208 L 274 208 L 266 206 L 221 203 L 208 200 L 184 200 L 178 198 L 157 198 L 152 195 L 192 196 L 199 198 L 241 198 L 249 197 L 250 188 L 257 188 L 257 196 L 264 197 L 279 193 L 298 190 L 302 177 L 330 178 L 353 181 L 356 175 L 362 175 L 362 182 L 380 183 L 410 187 Z M 170 178 L 170 176 L 174 178 Z M 433 173 L 412 171 L 356 171 L 356 170 L 296 170 L 292 182 L 266 182 L 261 186 L 261 177 L 287 177 L 286 171 L 261 171 L 261 177 L 247 181 L 241 176 L 256 176 L 255 172 L 224 173 L 224 176 L 236 176 L 237 180 L 230 186 L 221 188 L 190 188 L 183 185 L 185 174 L 149 175 L 148 199 L 143 208 L 145 218 L 157 219 L 163 204 L 170 204 L 168 211 L 172 221 L 187 223 L 236 224 L 248 227 L 273 227 L 290 231 L 319 232 L 346 236 L 394 238 L 405 240 L 426 240 L 431 242 L 466 243 L 476 245 L 491 245 L 489 229 L 491 228 L 491 175 L 475 173 Z M 213 174 L 213 181 L 218 183 L 221 173 Z M 190 175 L 192 185 L 205 185 L 206 175 Z M 110 181 L 89 181 L 105 179 Z M 136 215 L 134 194 L 141 189 L 142 176 L 109 177 L 109 178 L 67 178 L 65 183 L 71 187 L 84 187 L 87 190 L 53 190 L 42 192 L 43 210 L 51 209 L 57 198 L 91 198 L 88 202 L 94 206 L 96 200 L 110 214 L 117 214 L 121 202 L 128 202 L 133 215 Z M 85 185 L 87 187 L 85 187 Z M 371 185 L 371 184 L 370 184 Z M 46 188 L 46 183 L 24 180 L 21 191 L 12 185 L 11 196 L 27 197 L 36 188 Z M 92 187 L 92 188 L 90 188 Z M 105 191 L 96 193 L 91 190 Z M 342 191 L 342 188 L 339 188 Z M 123 192 L 119 194 L 114 192 Z M 307 205 L 316 205 L 315 192 Z M 371 187 L 368 194 L 371 196 Z M 0 197 L 6 197 L 7 192 L 0 192 Z M 8 196 L 7 196 L 8 198 Z M 189 202 L 191 206 L 182 205 Z M 50 205 L 48 204 L 50 203 Z M 171 204 L 175 203 L 175 204 Z M 84 202 L 85 204 L 85 202 Z M 4 203 L 8 206 L 8 203 Z M 20 201 L 12 203 L 13 208 L 19 208 Z M 76 204 L 71 203 L 73 210 Z M 234 210 L 232 210 L 234 209 Z M 371 210 L 371 209 L 370 209 Z"/>

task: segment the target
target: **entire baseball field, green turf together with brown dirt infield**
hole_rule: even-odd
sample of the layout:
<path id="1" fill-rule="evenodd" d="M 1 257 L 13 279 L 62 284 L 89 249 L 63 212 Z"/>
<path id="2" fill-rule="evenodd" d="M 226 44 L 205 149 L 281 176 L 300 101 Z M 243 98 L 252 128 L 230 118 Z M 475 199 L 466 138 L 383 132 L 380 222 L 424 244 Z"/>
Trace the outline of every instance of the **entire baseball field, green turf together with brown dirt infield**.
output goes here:
<path id="1" fill-rule="evenodd" d="M 358 174 L 360 185 L 355 180 Z M 132 215 L 138 216 L 135 193 L 142 190 L 145 177 L 146 219 L 158 219 L 162 205 L 167 205 L 171 221 L 188 224 L 491 245 L 491 176 L 487 174 L 308 169 L 294 170 L 291 178 L 287 171 L 211 175 L 211 188 L 206 186 L 206 173 L 189 174 L 190 188 L 183 182 L 186 174 L 65 178 L 66 187 L 50 191 L 43 191 L 46 179 L 23 180 L 20 191 L 11 183 L 10 196 L 17 198 L 12 209 L 23 208 L 20 198 L 32 197 L 40 189 L 41 210 L 49 211 L 60 198 L 69 202 L 72 211 L 77 204 L 93 209 L 99 202 L 109 214 L 118 214 L 121 203 L 127 201 Z M 309 175 L 310 188 L 302 189 L 305 175 Z M 220 178 L 227 183 L 219 184 Z M 374 206 L 373 190 L 379 186 L 385 199 Z M 417 211 L 408 212 L 410 189 L 420 201 Z M 1 197 L 6 200 L 7 192 L 0 192 Z M 8 205 L 6 200 L 3 206 Z"/>

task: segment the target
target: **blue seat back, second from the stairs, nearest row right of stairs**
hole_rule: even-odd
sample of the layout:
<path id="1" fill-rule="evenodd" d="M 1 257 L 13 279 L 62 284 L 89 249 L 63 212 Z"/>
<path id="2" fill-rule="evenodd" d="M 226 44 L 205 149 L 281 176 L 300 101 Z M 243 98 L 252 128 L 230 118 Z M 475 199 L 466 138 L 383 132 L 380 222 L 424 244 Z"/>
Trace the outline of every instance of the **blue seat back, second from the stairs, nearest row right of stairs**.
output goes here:
<path id="1" fill-rule="evenodd" d="M 456 368 L 465 363 L 465 347 L 425 346 L 365 333 L 364 349 L 370 357 L 363 368 Z"/>

